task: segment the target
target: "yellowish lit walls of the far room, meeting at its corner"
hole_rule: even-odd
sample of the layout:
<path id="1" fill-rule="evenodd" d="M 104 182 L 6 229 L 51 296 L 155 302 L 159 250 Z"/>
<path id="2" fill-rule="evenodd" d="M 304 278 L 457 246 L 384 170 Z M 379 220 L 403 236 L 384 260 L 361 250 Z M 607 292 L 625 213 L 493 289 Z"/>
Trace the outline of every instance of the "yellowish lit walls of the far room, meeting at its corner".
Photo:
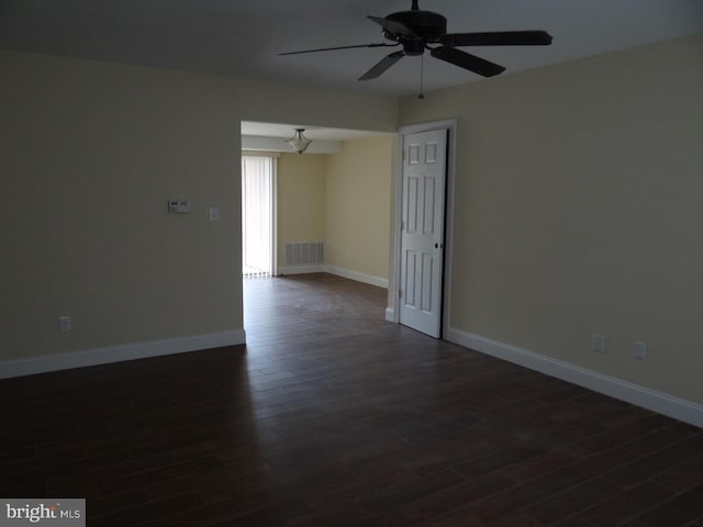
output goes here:
<path id="1" fill-rule="evenodd" d="M 394 148 L 394 135 L 378 135 L 347 141 L 339 154 L 281 155 L 279 267 L 286 243 L 321 240 L 333 272 L 388 280 Z"/>

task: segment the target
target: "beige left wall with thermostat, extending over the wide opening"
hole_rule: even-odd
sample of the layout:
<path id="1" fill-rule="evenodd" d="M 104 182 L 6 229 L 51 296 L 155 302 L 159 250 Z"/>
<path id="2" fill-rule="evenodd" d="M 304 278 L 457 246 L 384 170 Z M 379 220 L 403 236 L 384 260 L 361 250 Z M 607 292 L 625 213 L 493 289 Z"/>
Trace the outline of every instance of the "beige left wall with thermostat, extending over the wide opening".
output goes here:
<path id="1" fill-rule="evenodd" d="M 391 98 L 91 60 L 0 52 L 0 360 L 241 330 L 241 121 L 398 120 Z"/>

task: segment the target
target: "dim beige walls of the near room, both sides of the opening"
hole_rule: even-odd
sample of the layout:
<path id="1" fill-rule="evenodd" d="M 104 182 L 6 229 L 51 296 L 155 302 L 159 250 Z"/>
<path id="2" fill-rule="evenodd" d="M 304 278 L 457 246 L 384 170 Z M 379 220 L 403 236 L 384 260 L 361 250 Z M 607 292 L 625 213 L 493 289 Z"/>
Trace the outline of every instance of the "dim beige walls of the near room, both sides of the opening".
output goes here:
<path id="1" fill-rule="evenodd" d="M 401 101 L 401 124 L 458 117 L 453 327 L 703 402 L 702 49 Z M 398 124 L 390 98 L 11 52 L 0 71 L 0 360 L 241 329 L 239 122 Z"/>

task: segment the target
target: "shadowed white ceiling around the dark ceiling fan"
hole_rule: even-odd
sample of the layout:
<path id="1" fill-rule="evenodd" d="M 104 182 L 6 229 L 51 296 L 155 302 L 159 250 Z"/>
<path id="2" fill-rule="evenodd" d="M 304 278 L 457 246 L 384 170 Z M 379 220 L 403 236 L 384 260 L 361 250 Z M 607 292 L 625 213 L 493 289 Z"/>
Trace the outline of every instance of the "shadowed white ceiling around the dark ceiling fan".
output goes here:
<path id="1" fill-rule="evenodd" d="M 419 57 L 404 57 L 378 79 L 356 80 L 395 48 L 278 54 L 383 42 L 366 16 L 410 5 L 411 0 L 0 0 L 0 48 L 405 96 L 419 91 Z M 444 14 L 449 33 L 545 30 L 554 36 L 551 46 L 470 48 L 505 66 L 502 75 L 703 32 L 703 0 L 420 0 L 420 7 Z M 480 79 L 425 54 L 425 91 Z M 291 135 L 292 126 L 277 136 Z M 258 130 L 252 135 L 274 134 Z M 324 135 L 309 130 L 311 137 L 316 134 Z M 337 131 L 326 138 L 348 137 Z"/>

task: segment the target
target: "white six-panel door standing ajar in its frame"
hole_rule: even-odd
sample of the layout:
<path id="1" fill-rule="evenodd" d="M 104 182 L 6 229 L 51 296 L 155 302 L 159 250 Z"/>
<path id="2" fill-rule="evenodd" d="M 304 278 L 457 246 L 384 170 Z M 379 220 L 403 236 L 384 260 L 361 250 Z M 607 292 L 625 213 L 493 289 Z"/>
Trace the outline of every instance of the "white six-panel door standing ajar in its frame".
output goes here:
<path id="1" fill-rule="evenodd" d="M 447 131 L 403 138 L 400 322 L 439 337 Z"/>

